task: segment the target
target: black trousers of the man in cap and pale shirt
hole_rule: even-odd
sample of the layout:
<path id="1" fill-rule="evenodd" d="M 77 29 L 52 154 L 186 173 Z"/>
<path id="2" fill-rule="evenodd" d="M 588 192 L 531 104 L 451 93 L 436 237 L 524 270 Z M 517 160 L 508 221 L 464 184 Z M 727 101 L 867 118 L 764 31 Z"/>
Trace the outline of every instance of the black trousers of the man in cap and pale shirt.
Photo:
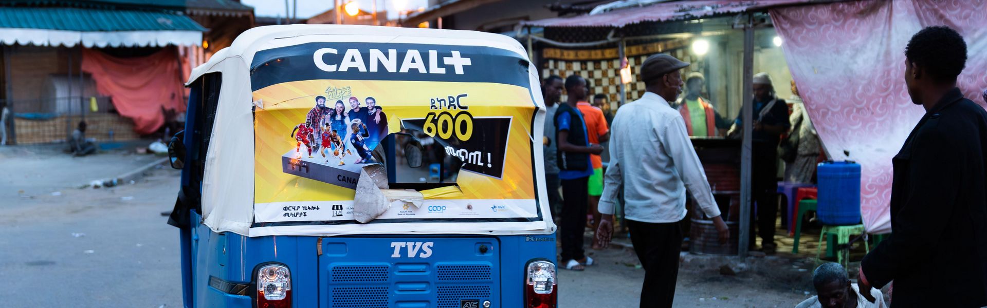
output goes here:
<path id="1" fill-rule="evenodd" d="M 675 299 L 679 252 L 682 251 L 681 222 L 626 221 L 631 229 L 634 252 L 645 268 L 641 307 L 671 307 Z"/>

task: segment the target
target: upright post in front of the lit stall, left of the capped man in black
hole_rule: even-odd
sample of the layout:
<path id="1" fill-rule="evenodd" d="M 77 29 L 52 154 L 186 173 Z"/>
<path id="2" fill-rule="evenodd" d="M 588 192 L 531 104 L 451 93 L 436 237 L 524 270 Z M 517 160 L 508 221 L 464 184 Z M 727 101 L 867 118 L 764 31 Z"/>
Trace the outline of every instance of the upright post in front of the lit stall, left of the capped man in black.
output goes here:
<path id="1" fill-rule="evenodd" d="M 747 257 L 750 246 L 751 214 L 751 129 L 754 129 L 754 107 L 751 96 L 754 90 L 754 17 L 748 15 L 743 28 L 743 97 L 741 98 L 741 118 L 743 121 L 743 145 L 740 148 L 740 243 L 738 255 Z"/>

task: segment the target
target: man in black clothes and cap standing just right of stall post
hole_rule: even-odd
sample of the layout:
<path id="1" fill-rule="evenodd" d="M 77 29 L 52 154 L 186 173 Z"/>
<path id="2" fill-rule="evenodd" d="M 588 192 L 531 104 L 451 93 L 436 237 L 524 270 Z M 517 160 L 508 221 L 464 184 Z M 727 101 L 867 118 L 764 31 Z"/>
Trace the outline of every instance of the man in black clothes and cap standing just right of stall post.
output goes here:
<path id="1" fill-rule="evenodd" d="M 775 223 L 778 219 L 778 143 L 782 134 L 792 126 L 789 122 L 789 106 L 775 96 L 775 87 L 768 73 L 754 75 L 754 130 L 751 149 L 751 198 L 757 202 L 757 231 L 761 237 L 761 251 L 774 254 Z M 742 127 L 741 115 L 736 117 L 736 127 Z M 738 133 L 734 128 L 728 135 Z M 751 215 L 755 211 L 751 211 Z M 751 219 L 753 220 L 753 218 Z M 754 246 L 754 224 L 750 224 L 750 245 Z"/>

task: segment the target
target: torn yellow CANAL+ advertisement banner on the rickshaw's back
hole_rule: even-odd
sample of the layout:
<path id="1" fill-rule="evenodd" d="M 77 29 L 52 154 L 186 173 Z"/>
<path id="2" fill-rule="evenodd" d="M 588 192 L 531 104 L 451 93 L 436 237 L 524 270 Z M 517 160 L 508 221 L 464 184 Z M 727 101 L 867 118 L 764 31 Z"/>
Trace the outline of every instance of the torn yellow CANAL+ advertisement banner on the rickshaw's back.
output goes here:
<path id="1" fill-rule="evenodd" d="M 259 51 L 253 227 L 359 225 L 361 168 L 381 163 L 388 134 L 413 131 L 422 156 L 462 164 L 457 186 L 422 191 L 419 207 L 395 201 L 368 224 L 541 221 L 528 70 L 517 53 L 488 46 L 308 42 Z M 396 140 L 398 159 L 388 163 L 398 182 L 434 182 L 436 170 L 404 162 L 411 138 Z"/>

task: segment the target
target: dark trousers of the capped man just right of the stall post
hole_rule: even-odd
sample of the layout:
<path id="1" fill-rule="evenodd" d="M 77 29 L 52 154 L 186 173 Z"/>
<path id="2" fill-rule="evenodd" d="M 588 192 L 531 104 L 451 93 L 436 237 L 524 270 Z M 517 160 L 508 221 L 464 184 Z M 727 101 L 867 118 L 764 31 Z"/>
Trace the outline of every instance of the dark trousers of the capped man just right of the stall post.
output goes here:
<path id="1" fill-rule="evenodd" d="M 752 149 L 751 200 L 757 202 L 757 235 L 761 245 L 775 243 L 778 220 L 778 150 L 777 142 L 756 142 Z M 751 212 L 751 219 L 754 218 Z M 750 224 L 750 245 L 754 241 L 754 224 Z"/>

